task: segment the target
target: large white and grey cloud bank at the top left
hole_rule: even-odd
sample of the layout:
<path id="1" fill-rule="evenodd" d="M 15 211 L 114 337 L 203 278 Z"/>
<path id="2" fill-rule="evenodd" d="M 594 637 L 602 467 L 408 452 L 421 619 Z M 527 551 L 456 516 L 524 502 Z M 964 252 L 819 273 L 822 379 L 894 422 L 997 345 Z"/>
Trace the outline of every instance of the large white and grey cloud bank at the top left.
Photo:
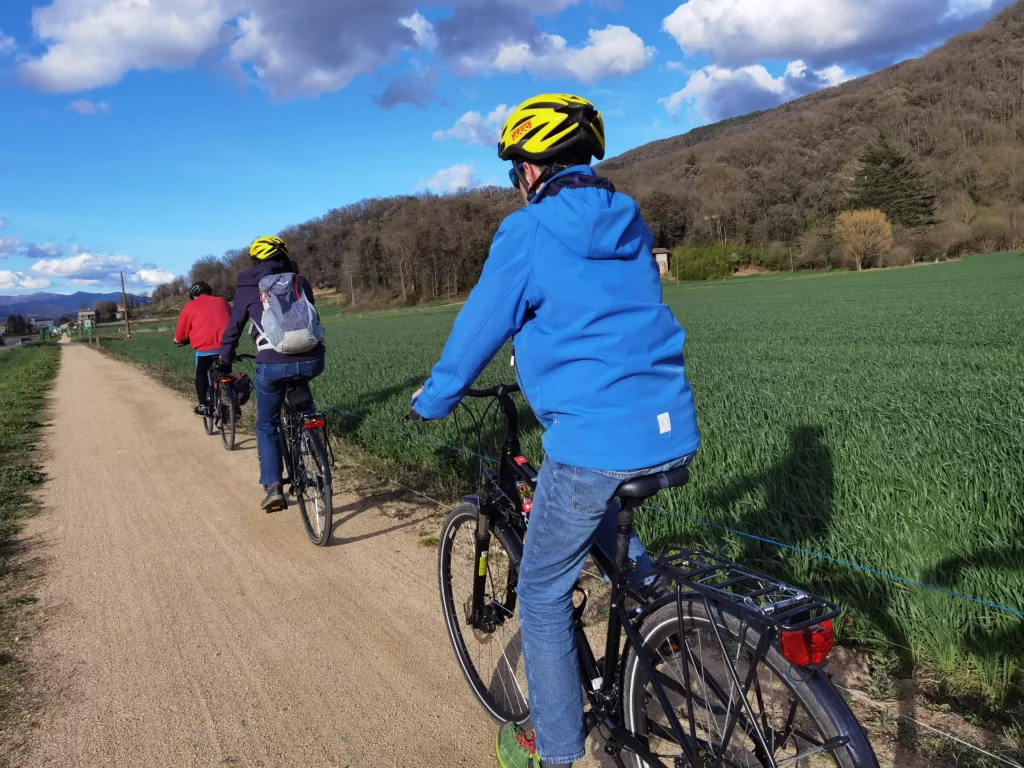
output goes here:
<path id="1" fill-rule="evenodd" d="M 457 0 L 464 4 L 470 0 Z M 24 82 L 72 93 L 133 70 L 173 71 L 226 51 L 274 96 L 318 95 L 372 72 L 433 28 L 416 0 L 50 0 L 32 14 L 45 46 Z"/>

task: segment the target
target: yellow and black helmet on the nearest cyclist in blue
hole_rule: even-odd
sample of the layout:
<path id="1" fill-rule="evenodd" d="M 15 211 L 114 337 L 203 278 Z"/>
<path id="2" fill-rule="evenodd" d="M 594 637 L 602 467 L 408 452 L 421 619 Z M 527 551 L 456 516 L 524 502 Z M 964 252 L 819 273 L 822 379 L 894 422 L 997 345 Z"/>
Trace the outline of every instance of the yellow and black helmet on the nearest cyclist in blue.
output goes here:
<path id="1" fill-rule="evenodd" d="M 505 121 L 498 157 L 543 164 L 555 157 L 588 153 L 604 159 L 604 120 L 585 98 L 568 93 L 542 93 L 526 99 Z M 585 161 L 585 162 L 589 162 Z"/>

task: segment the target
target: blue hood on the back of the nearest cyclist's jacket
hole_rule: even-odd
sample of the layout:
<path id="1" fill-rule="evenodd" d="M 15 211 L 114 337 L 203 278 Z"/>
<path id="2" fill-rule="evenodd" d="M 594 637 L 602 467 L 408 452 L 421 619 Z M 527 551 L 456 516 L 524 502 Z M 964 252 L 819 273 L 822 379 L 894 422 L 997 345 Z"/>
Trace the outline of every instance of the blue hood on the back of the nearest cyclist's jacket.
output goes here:
<path id="1" fill-rule="evenodd" d="M 554 176 L 525 211 L 571 253 L 586 259 L 633 259 L 645 246 L 652 246 L 640 206 L 617 195 L 612 183 L 588 165 Z"/>

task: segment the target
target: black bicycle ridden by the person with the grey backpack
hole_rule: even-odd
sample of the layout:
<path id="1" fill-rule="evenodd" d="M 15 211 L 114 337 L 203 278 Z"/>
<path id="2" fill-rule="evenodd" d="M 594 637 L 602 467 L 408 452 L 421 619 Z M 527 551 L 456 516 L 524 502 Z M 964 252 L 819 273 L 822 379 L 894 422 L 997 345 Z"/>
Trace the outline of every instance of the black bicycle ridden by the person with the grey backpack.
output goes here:
<path id="1" fill-rule="evenodd" d="M 288 473 L 285 486 L 299 504 L 302 524 L 310 541 L 324 547 L 331 541 L 334 525 L 333 461 L 329 457 L 327 420 L 313 407 L 305 380 L 283 383 L 286 394 L 278 434 Z"/>

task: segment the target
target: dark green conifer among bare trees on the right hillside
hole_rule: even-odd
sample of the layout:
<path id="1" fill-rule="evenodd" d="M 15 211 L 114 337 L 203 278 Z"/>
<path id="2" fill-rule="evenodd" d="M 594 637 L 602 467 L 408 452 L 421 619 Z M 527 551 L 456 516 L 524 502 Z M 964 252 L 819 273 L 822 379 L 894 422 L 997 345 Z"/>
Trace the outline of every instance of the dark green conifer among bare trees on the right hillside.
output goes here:
<path id="1" fill-rule="evenodd" d="M 935 223 L 931 183 L 913 159 L 884 136 L 868 144 L 860 156 L 850 207 L 877 208 L 894 224 L 911 229 Z"/>

